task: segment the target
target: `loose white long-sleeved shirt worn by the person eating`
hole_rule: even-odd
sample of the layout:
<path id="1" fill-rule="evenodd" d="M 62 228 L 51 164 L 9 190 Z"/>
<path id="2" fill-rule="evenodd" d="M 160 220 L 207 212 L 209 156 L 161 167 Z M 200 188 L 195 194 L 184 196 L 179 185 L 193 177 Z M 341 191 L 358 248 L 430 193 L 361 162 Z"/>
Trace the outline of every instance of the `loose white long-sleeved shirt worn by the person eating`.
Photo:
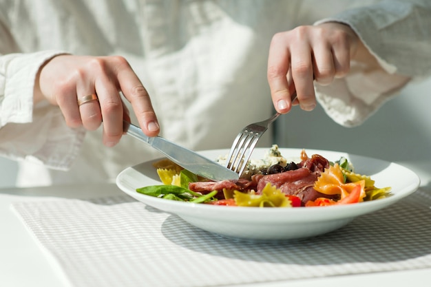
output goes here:
<path id="1" fill-rule="evenodd" d="M 193 150 L 229 148 L 272 112 L 273 34 L 316 21 L 348 23 L 381 64 L 353 63 L 346 78 L 315 87 L 337 123 L 359 125 L 406 78 L 430 74 L 430 14 L 426 0 L 0 1 L 0 153 L 19 160 L 21 186 L 112 182 L 160 156 L 127 136 L 104 147 L 101 129 L 70 129 L 58 107 L 33 106 L 36 72 L 61 53 L 124 56 L 149 91 L 161 136 Z M 272 143 L 269 132 L 260 140 Z"/>

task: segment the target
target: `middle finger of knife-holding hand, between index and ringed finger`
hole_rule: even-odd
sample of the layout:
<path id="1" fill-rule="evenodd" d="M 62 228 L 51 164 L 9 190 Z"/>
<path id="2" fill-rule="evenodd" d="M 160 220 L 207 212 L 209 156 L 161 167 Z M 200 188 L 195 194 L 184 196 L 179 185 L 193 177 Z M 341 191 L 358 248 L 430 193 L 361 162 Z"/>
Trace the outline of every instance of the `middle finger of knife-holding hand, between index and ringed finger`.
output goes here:
<path id="1" fill-rule="evenodd" d="M 123 101 L 116 85 L 105 75 L 96 81 L 96 92 L 103 118 L 103 144 L 113 147 L 123 136 Z"/>

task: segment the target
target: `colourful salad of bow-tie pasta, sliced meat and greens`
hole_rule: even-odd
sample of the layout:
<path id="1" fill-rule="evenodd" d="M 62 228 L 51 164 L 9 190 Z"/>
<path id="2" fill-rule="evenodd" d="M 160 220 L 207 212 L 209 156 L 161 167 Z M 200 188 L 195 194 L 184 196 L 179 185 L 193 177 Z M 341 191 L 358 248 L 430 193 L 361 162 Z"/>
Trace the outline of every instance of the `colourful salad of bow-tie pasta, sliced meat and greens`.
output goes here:
<path id="1" fill-rule="evenodd" d="M 224 156 L 218 158 L 223 164 Z M 200 178 L 170 160 L 155 162 L 162 184 L 136 189 L 166 200 L 199 204 L 254 207 L 312 207 L 355 204 L 386 198 L 390 187 L 375 187 L 370 176 L 355 173 L 351 162 L 323 156 L 308 157 L 303 149 L 286 160 L 273 145 L 261 160 L 248 162 L 239 180 L 213 182 Z"/>

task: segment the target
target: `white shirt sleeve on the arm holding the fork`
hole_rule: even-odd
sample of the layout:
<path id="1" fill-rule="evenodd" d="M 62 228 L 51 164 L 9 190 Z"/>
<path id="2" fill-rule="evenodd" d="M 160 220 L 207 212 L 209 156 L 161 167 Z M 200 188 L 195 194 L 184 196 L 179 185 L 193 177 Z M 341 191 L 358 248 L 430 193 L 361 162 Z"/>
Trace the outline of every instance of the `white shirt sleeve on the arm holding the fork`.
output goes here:
<path id="1" fill-rule="evenodd" d="M 316 96 L 326 113 L 346 127 L 364 123 L 411 80 L 431 74 L 431 1 L 386 0 L 346 10 L 315 23 L 349 25 L 380 67 L 352 63 L 345 78 L 323 87 Z"/>

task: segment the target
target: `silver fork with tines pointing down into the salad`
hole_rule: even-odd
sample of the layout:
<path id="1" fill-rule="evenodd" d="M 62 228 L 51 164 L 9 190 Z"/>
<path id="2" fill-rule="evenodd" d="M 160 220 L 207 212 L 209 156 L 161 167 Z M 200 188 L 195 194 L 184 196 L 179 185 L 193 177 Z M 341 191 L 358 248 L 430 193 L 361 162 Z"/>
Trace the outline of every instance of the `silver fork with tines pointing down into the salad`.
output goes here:
<path id="1" fill-rule="evenodd" d="M 296 92 L 292 95 L 292 102 L 295 98 Z M 271 118 L 244 127 L 240 134 L 236 136 L 235 140 L 233 140 L 229 156 L 227 156 L 227 161 L 224 166 L 241 176 L 247 166 L 247 162 L 249 162 L 257 141 L 278 116 L 280 116 L 280 114 L 275 113 Z"/>

